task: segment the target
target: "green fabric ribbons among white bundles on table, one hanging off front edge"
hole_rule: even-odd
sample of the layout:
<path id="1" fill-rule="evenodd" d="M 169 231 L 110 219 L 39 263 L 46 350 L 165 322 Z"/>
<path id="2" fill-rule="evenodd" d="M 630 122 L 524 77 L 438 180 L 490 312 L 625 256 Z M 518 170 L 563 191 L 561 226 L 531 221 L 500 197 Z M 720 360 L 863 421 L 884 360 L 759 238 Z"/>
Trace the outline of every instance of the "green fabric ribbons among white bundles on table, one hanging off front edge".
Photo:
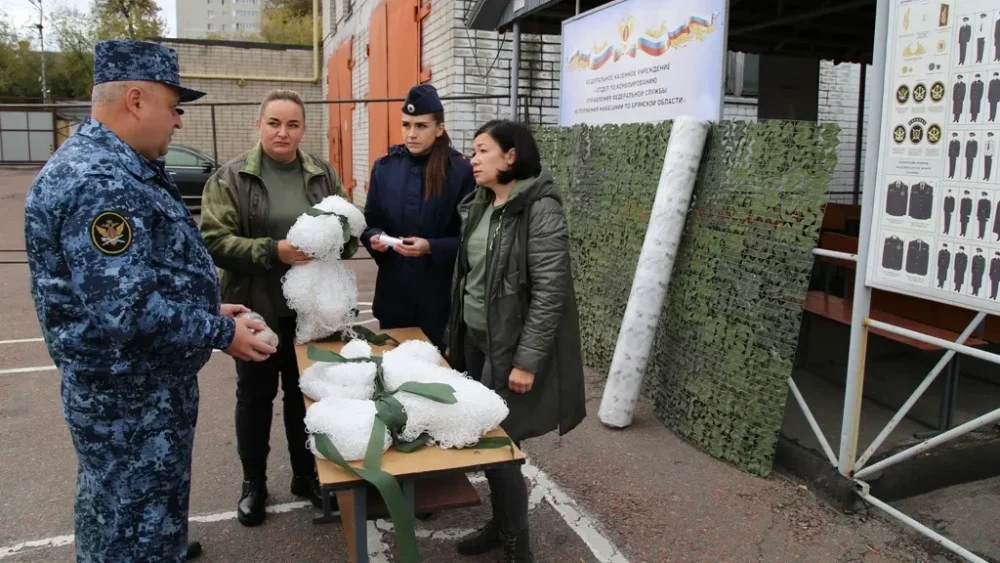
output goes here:
<path id="1" fill-rule="evenodd" d="M 361 327 L 363 328 L 363 327 Z M 364 331 L 375 338 L 386 337 L 383 343 L 377 344 L 379 346 L 384 345 L 385 341 L 392 340 L 399 344 L 394 338 L 388 335 L 375 335 L 371 330 L 363 328 Z M 361 333 L 358 327 L 355 327 L 355 331 Z M 368 339 L 368 336 L 365 336 Z M 371 342 L 371 340 L 369 340 Z M 372 424 L 371 436 L 368 439 L 368 448 L 365 450 L 365 460 L 363 469 L 355 469 L 351 467 L 350 464 L 344 459 L 337 448 L 333 445 L 333 441 L 325 434 L 313 434 L 316 441 L 316 450 L 323 455 L 326 459 L 336 463 L 344 470 L 360 477 L 364 481 L 371 483 L 376 489 L 378 489 L 379 494 L 382 495 L 382 499 L 385 501 L 386 508 L 389 510 L 389 517 L 392 519 L 393 527 L 396 534 L 396 544 L 399 551 L 399 556 L 403 563 L 418 563 L 420 561 L 420 554 L 417 552 L 416 543 L 416 529 L 415 522 L 413 518 L 413 513 L 406 506 L 406 502 L 403 499 L 402 491 L 399 487 L 399 482 L 385 471 L 382 471 L 382 447 L 384 446 L 384 436 L 385 431 L 389 430 L 389 435 L 392 437 L 393 447 L 403 453 L 412 453 L 420 449 L 421 446 L 426 445 L 430 441 L 430 436 L 424 432 L 418 436 L 415 440 L 406 442 L 401 439 L 400 433 L 403 428 L 406 427 L 406 411 L 403 409 L 402 403 L 394 396 L 396 393 L 410 393 L 413 395 L 418 395 L 425 397 L 432 401 L 437 401 L 446 405 L 453 405 L 458 400 L 455 398 L 455 388 L 451 385 L 445 383 L 421 383 L 418 381 L 407 381 L 400 385 L 395 391 L 388 392 L 385 388 L 385 376 L 382 372 L 382 358 L 380 356 L 372 356 L 368 358 L 345 358 L 340 354 L 324 350 L 322 348 L 310 345 L 306 350 L 306 356 L 314 362 L 325 362 L 325 363 L 362 363 L 362 362 L 373 362 L 376 366 L 375 371 L 375 422 Z M 513 459 L 514 457 L 514 442 L 503 436 L 488 436 L 482 438 L 475 445 L 472 446 L 476 449 L 495 449 L 495 448 L 510 448 L 510 455 Z M 356 493 L 364 494 L 364 492 Z"/>

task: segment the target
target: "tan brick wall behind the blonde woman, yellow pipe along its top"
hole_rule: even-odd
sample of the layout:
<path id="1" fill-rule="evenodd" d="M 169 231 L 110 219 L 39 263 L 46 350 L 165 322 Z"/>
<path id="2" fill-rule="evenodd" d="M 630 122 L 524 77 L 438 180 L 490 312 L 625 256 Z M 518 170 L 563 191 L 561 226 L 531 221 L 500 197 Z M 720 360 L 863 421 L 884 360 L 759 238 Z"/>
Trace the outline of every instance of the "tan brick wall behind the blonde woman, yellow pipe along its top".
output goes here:
<path id="1" fill-rule="evenodd" d="M 235 78 L 182 79 L 191 88 L 207 92 L 195 103 L 234 103 L 216 106 L 213 142 L 212 112 L 208 106 L 191 106 L 184 113 L 184 127 L 174 134 L 177 143 L 192 146 L 208 155 L 218 150 L 225 162 L 253 147 L 257 140 L 254 120 L 264 96 L 275 88 L 291 89 L 304 100 L 319 100 L 320 84 L 293 82 L 281 78 L 308 79 L 313 74 L 311 47 L 262 45 L 239 41 L 199 41 L 161 39 L 177 50 L 181 73 L 225 76 L 275 77 L 265 81 Z M 306 107 L 306 136 L 302 148 L 325 158 L 325 108 Z"/>

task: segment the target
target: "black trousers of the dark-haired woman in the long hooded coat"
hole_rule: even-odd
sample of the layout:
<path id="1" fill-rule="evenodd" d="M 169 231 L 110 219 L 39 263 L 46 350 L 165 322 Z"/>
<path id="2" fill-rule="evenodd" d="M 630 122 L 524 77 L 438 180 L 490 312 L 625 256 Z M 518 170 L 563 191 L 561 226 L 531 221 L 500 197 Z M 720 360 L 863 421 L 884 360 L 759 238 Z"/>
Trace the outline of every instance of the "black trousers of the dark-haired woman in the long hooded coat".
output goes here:
<path id="1" fill-rule="evenodd" d="M 486 370 L 486 333 L 466 329 L 465 333 L 465 365 L 469 377 L 489 385 L 483 381 Z M 488 374 L 486 374 L 489 377 Z M 520 448 L 521 444 L 518 443 Z M 528 486 L 521 474 L 521 466 L 505 466 L 500 469 L 485 471 L 486 481 L 490 486 L 490 503 L 493 505 L 493 517 L 500 529 L 507 533 L 523 532 L 528 529 Z"/>

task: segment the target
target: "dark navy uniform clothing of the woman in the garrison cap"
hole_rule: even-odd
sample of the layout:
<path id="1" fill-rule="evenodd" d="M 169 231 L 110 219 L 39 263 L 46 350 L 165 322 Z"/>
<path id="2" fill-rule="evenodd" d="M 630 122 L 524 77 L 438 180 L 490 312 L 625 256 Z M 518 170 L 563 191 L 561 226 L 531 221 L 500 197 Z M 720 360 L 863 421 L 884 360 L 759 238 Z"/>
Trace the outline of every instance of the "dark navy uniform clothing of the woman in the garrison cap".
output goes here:
<path id="1" fill-rule="evenodd" d="M 378 264 L 372 314 L 379 326 L 419 326 L 440 347 L 448 324 L 451 278 L 458 256 L 458 204 L 476 183 L 472 165 L 453 150 L 444 189 L 439 196 L 425 200 L 426 169 L 427 158 L 411 156 L 404 145 L 394 145 L 375 161 L 365 202 L 368 228 L 361 242 Z M 431 253 L 407 258 L 391 248 L 375 252 L 371 237 L 381 232 L 398 238 L 425 238 Z"/>

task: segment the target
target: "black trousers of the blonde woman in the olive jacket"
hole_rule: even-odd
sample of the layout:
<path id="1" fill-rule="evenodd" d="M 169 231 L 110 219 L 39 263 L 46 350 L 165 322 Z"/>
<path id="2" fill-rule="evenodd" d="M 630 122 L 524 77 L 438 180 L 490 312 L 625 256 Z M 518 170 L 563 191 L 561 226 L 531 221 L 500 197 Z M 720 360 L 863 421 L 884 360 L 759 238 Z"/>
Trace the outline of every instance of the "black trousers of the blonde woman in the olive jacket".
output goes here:
<path id="1" fill-rule="evenodd" d="M 311 476 L 316 471 L 315 459 L 306 445 L 306 406 L 295 358 L 295 319 L 280 319 L 275 331 L 278 351 L 270 358 L 263 362 L 236 361 L 236 449 L 243 463 L 243 476 L 250 480 L 266 479 L 272 407 L 279 381 L 292 472 Z"/>

